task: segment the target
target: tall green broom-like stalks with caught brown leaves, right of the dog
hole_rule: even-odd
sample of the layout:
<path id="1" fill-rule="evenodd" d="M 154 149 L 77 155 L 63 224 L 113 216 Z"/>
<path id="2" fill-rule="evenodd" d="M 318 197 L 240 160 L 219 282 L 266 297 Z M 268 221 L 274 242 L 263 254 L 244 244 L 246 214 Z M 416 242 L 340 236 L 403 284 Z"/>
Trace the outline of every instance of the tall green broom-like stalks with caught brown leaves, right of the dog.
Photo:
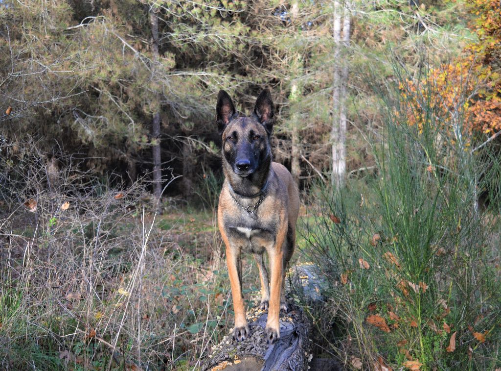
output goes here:
<path id="1" fill-rule="evenodd" d="M 342 336 L 319 346 L 349 367 L 359 358 L 367 369 L 494 369 L 501 157 L 488 145 L 471 150 L 482 138 L 462 121 L 466 88 L 444 117 L 431 75 L 395 76 L 395 86 L 373 86 L 385 118 L 381 138 L 368 138 L 377 176 L 319 187 L 305 219 L 310 254 L 330 279 L 332 317 L 317 329 Z"/>

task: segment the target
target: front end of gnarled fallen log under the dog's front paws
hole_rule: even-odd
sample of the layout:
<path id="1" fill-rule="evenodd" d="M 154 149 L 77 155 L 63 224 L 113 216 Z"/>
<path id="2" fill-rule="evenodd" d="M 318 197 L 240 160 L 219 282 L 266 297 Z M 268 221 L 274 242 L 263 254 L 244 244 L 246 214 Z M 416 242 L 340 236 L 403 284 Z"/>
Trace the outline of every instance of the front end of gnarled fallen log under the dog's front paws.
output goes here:
<path id="1" fill-rule="evenodd" d="M 266 311 L 253 308 L 247 312 L 251 335 L 237 342 L 226 335 L 203 363 L 204 371 L 300 371 L 307 370 L 312 359 L 310 353 L 311 324 L 302 309 L 293 300 L 287 300 L 288 312 L 281 312 L 280 339 L 267 343 L 264 329 L 268 318 Z M 232 331 L 232 329 L 230 330 Z"/>

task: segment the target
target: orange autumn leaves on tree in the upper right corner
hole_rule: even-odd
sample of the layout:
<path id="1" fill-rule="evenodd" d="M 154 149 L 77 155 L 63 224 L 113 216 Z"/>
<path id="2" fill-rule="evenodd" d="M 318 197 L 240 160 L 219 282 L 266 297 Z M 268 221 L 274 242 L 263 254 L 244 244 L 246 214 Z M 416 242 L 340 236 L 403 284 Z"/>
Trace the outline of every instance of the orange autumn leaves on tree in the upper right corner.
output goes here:
<path id="1" fill-rule="evenodd" d="M 477 41 L 468 44 L 456 61 L 431 69 L 423 79 L 407 79 L 399 85 L 405 120 L 419 131 L 430 119 L 429 112 L 449 134 L 501 130 L 501 8 L 496 0 L 475 0 L 469 6 Z"/>

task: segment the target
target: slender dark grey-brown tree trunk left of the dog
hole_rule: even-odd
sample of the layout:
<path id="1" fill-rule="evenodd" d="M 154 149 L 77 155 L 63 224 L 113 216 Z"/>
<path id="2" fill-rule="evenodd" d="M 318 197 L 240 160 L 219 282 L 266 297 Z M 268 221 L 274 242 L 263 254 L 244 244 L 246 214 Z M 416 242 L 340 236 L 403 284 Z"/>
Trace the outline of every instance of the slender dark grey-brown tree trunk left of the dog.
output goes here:
<path id="1" fill-rule="evenodd" d="M 156 64 L 159 57 L 158 52 L 158 17 L 150 8 L 150 25 L 151 25 L 151 52 L 152 66 L 151 79 L 156 79 Z M 153 150 L 153 197 L 154 207 L 156 211 L 160 211 L 160 197 L 162 193 L 162 160 L 160 156 L 160 94 L 153 93 L 153 119 L 151 128 L 151 143 Z"/>

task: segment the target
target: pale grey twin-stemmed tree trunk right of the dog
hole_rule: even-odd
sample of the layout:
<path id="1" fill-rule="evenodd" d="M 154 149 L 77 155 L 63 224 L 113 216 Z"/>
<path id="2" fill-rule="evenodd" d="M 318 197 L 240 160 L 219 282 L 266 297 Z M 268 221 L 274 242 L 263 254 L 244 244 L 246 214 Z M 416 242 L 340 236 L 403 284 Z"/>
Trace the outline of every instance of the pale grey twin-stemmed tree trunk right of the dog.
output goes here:
<path id="1" fill-rule="evenodd" d="M 344 16 L 342 17 L 344 13 Z M 343 39 L 341 39 L 341 19 L 343 18 Z M 336 189 L 345 185 L 346 179 L 346 91 L 348 82 L 348 64 L 346 50 L 350 42 L 351 15 L 349 3 L 344 6 L 334 2 L 334 76 L 333 76 L 333 123 L 331 130 L 332 143 L 332 178 Z M 344 55 L 343 58 L 342 55 Z"/>

